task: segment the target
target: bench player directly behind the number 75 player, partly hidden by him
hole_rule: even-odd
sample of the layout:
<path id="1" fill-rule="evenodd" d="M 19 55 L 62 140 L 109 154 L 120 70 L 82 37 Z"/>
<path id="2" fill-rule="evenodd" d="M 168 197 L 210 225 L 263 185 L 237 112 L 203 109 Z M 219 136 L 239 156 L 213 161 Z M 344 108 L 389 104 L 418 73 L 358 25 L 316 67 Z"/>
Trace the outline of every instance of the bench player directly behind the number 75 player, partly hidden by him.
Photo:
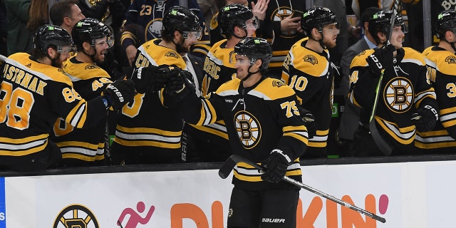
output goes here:
<path id="1" fill-rule="evenodd" d="M 234 45 L 242 38 L 253 36 L 257 29 L 257 21 L 252 11 L 242 4 L 222 7 L 217 21 L 227 39 L 215 43 L 204 60 L 205 72 L 201 86 L 203 96 L 236 77 L 236 68 L 234 61 L 230 61 L 230 53 L 234 51 Z M 227 128 L 223 121 L 204 126 L 186 125 L 185 132 L 191 136 L 199 160 L 220 162 L 231 155 Z"/>

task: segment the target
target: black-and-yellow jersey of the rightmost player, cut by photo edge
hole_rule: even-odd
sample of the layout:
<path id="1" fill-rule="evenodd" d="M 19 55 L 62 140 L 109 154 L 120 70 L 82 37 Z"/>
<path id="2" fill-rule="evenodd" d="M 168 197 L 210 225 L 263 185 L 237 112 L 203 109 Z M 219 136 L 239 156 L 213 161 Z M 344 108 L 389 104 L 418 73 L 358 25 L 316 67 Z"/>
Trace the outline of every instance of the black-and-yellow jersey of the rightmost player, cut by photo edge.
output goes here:
<path id="1" fill-rule="evenodd" d="M 456 147 L 456 55 L 430 46 L 423 51 L 423 56 L 440 112 L 434 130 L 417 132 L 415 146 L 423 149 Z"/>

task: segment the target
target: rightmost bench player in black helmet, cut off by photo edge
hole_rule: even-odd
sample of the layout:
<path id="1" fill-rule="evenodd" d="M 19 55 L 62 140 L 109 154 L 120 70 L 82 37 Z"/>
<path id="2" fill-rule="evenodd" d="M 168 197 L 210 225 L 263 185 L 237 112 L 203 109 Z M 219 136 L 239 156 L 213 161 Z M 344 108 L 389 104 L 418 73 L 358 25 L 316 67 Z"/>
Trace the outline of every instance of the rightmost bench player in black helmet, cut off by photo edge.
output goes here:
<path id="1" fill-rule="evenodd" d="M 432 82 L 440 109 L 440 121 L 434 130 L 423 132 L 417 125 L 415 147 L 425 153 L 454 153 L 456 147 L 456 11 L 442 11 L 437 16 L 435 33 L 440 42 L 423 51 L 428 78 Z M 423 116 L 424 118 L 424 116 Z M 427 123 L 425 120 L 424 123 Z M 424 129 L 426 130 L 426 129 Z"/>

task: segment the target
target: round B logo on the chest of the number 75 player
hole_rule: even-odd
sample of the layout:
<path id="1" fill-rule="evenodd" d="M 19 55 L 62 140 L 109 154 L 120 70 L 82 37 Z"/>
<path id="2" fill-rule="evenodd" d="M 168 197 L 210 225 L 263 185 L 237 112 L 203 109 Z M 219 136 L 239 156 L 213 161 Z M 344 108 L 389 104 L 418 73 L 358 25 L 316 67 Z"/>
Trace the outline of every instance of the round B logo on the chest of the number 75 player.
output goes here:
<path id="1" fill-rule="evenodd" d="M 261 125 L 254 115 L 242 110 L 234 115 L 237 136 L 246 149 L 255 147 L 261 138 Z"/>

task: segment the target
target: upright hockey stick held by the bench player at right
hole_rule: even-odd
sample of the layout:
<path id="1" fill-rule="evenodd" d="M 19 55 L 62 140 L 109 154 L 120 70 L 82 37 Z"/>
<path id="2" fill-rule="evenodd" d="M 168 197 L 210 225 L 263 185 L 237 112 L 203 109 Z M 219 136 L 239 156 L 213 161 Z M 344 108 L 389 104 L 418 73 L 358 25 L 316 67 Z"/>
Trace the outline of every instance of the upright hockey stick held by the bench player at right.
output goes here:
<path id="1" fill-rule="evenodd" d="M 399 0 L 395 0 L 394 5 L 393 5 L 393 14 L 391 14 L 391 18 L 390 18 L 390 31 L 388 31 L 387 44 L 390 44 L 390 38 L 391 38 L 391 34 L 393 33 L 394 20 L 396 18 L 398 6 L 399 6 Z M 371 135 L 372 135 L 373 141 L 375 142 L 375 145 L 377 145 L 378 149 L 380 149 L 380 151 L 383 152 L 383 155 L 391 155 L 393 148 L 390 147 L 388 142 L 385 142 L 385 140 L 383 140 L 380 133 L 378 133 L 377 125 L 375 125 L 375 112 L 377 111 L 377 103 L 378 103 L 378 98 L 380 97 L 379 94 L 380 94 L 380 88 L 381 88 L 382 81 L 383 81 L 384 72 L 385 72 L 385 68 L 383 68 L 380 71 L 380 77 L 378 78 L 378 83 L 377 83 L 377 86 L 375 87 L 375 100 L 373 102 L 371 116 L 369 117 L 369 130 L 371 131 Z"/>

